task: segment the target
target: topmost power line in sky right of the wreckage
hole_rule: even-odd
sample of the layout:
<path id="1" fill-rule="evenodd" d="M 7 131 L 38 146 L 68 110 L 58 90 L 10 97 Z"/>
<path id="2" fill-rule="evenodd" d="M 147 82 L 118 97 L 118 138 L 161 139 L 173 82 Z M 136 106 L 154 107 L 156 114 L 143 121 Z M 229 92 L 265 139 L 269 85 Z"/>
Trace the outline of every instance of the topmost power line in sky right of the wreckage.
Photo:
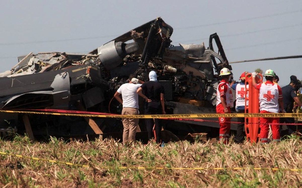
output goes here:
<path id="1" fill-rule="evenodd" d="M 238 20 L 230 20 L 230 21 L 225 21 L 225 22 L 208 23 L 208 24 L 202 24 L 202 25 L 197 25 L 197 26 L 178 27 L 178 28 L 175 28 L 175 29 L 192 29 L 192 28 L 197 28 L 197 27 L 206 27 L 206 26 L 220 25 L 220 24 L 226 24 L 226 23 L 236 23 L 236 22 L 255 20 L 255 19 L 261 19 L 261 18 L 266 18 L 266 17 L 274 17 L 274 16 L 281 16 L 281 15 L 286 15 L 286 14 L 294 14 L 294 13 L 298 13 L 298 12 L 301 12 L 301 11 L 302 11 L 302 9 L 296 10 L 296 11 L 281 12 L 281 13 L 276 13 L 276 14 L 268 14 L 268 15 L 264 15 L 264 16 L 249 17 L 249 18 L 238 19 Z"/>

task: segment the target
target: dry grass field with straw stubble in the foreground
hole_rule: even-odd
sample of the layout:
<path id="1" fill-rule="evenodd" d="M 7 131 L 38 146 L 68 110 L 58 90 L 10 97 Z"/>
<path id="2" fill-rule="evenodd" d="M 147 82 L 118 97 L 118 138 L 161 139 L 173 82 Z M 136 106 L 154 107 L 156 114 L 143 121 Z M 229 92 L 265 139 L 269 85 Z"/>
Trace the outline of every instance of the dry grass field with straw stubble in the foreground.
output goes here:
<path id="1" fill-rule="evenodd" d="M 181 141 L 158 147 L 139 142 L 123 146 L 113 139 L 31 143 L 28 137 L 0 140 L 1 152 L 87 164 L 77 167 L 0 155 L 1 187 L 301 187 L 302 141 L 223 145 Z M 121 169 L 120 167 L 127 167 Z M 148 167 L 137 169 L 134 167 Z M 208 168 L 154 169 L 154 167 Z M 211 168 L 221 167 L 223 170 Z M 244 167 L 240 170 L 228 168 Z M 262 168 L 255 170 L 252 168 Z M 286 168 L 277 171 L 271 168 Z"/>

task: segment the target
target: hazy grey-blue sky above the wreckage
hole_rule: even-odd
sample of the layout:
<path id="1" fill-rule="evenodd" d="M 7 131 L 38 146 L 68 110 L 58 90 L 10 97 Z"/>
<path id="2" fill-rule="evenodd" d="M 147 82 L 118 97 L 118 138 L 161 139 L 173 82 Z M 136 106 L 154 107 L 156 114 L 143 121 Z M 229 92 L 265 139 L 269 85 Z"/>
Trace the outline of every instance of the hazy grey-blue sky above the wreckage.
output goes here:
<path id="1" fill-rule="evenodd" d="M 0 2 L 0 72 L 30 52 L 89 52 L 162 17 L 172 44 L 208 46 L 217 32 L 228 60 L 302 54 L 302 1 L 5 1 Z M 280 85 L 302 79 L 302 59 L 232 64 L 243 71 L 273 69 Z"/>

